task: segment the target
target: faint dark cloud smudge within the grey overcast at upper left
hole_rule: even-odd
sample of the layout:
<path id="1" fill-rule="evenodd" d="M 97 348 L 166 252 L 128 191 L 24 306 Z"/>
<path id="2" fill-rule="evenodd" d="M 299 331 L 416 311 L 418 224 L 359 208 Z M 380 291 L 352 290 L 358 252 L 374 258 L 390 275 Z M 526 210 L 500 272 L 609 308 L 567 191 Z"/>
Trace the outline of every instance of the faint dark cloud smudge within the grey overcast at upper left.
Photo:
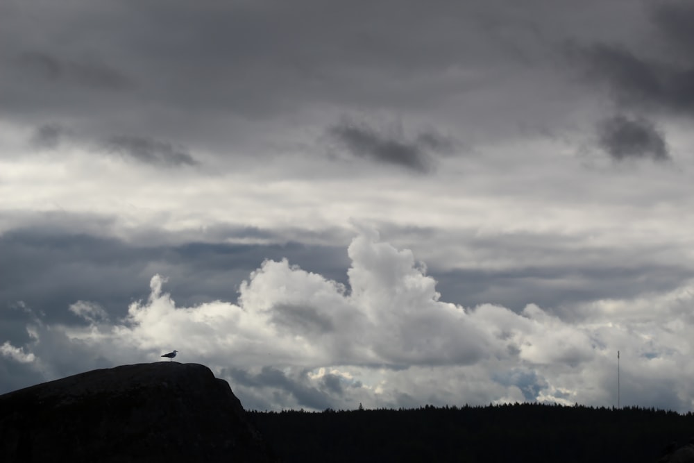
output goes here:
<path id="1" fill-rule="evenodd" d="M 130 80 L 116 69 L 94 58 L 66 60 L 43 51 L 25 51 L 15 59 L 27 77 L 55 83 L 84 85 L 106 90 L 123 90 Z"/>

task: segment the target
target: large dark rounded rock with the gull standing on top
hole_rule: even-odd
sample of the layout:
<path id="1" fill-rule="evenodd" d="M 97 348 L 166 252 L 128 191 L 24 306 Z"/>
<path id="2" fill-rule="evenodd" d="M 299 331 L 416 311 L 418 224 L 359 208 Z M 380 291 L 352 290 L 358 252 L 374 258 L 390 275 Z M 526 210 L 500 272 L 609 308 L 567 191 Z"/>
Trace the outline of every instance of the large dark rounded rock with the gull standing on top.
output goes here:
<path id="1" fill-rule="evenodd" d="M 94 370 L 0 396 L 0 461 L 269 462 L 228 383 L 200 364 Z"/>

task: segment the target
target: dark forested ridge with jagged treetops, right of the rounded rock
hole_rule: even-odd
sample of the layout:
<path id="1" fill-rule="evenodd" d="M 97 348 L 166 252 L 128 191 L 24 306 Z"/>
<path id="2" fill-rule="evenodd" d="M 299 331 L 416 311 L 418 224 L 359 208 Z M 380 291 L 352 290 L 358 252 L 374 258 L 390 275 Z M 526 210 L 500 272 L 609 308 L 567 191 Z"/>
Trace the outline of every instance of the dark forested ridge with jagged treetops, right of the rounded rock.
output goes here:
<path id="1" fill-rule="evenodd" d="M 655 462 L 694 415 L 625 407 L 248 412 L 282 462 Z"/>

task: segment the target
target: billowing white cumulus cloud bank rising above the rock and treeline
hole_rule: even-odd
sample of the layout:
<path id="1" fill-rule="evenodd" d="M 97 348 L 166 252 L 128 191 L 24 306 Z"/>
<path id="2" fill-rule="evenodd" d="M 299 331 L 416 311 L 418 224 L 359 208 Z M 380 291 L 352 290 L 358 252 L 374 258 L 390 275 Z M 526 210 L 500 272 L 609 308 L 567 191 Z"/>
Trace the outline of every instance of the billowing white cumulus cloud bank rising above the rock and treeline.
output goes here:
<path id="1" fill-rule="evenodd" d="M 178 307 L 155 275 L 146 301 L 109 321 L 94 303 L 69 310 L 88 326 L 30 323 L 25 346 L 3 355 L 31 362 L 46 379 L 73 369 L 160 360 L 208 364 L 246 407 L 350 408 L 424 403 L 550 401 L 615 405 L 616 351 L 623 404 L 686 410 L 694 387 L 692 288 L 645 302 L 598 301 L 572 323 L 530 303 L 464 308 L 441 301 L 412 251 L 362 233 L 348 248 L 348 285 L 291 265 L 262 262 L 236 303 Z M 614 311 L 623 312 L 620 322 Z M 667 321 L 662 321 L 663 318 Z"/>

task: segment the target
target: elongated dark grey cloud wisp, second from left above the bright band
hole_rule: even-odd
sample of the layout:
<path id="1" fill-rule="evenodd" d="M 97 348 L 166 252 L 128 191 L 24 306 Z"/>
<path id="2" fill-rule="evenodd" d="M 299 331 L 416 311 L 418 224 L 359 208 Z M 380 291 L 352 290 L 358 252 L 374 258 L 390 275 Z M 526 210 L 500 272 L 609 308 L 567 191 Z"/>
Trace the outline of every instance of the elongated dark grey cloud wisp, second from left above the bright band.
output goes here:
<path id="1" fill-rule="evenodd" d="M 105 144 L 105 149 L 119 153 L 145 164 L 166 167 L 194 166 L 199 162 L 182 146 L 151 140 L 145 137 L 111 137 Z"/>

